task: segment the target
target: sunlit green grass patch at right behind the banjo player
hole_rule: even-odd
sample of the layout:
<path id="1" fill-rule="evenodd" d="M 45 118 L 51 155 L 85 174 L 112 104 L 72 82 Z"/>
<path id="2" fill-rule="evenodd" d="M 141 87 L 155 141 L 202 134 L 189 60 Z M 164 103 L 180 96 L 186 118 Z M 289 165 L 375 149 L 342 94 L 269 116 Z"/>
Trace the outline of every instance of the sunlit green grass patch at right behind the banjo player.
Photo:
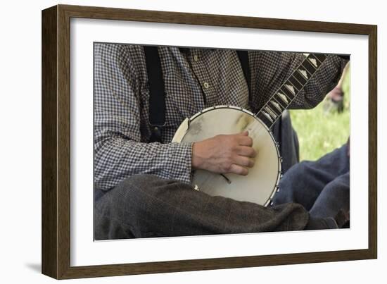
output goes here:
<path id="1" fill-rule="evenodd" d="M 347 142 L 350 132 L 350 70 L 343 79 L 344 111 L 326 113 L 322 101 L 315 109 L 291 110 L 300 142 L 300 161 L 315 161 Z"/>

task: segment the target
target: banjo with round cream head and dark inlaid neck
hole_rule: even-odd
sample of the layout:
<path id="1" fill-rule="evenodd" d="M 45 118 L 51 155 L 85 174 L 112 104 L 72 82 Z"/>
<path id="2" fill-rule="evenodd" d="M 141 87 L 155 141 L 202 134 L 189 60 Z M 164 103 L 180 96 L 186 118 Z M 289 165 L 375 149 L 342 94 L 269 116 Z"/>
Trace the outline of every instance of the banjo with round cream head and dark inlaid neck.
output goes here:
<path id="1" fill-rule="evenodd" d="M 179 125 L 172 142 L 198 142 L 215 135 L 247 130 L 253 140 L 253 149 L 258 152 L 255 165 L 246 176 L 194 171 L 192 185 L 195 190 L 263 206 L 270 204 L 278 190 L 282 161 L 271 128 L 326 59 L 324 54 L 304 55 L 303 62 L 258 113 L 237 106 L 212 106 Z"/>

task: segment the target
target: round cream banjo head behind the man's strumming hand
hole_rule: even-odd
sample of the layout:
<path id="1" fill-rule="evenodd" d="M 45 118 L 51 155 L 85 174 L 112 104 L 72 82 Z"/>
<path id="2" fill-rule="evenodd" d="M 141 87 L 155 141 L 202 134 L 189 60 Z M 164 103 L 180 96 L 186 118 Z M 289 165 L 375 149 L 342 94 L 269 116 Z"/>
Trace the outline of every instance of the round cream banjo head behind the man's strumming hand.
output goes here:
<path id="1" fill-rule="evenodd" d="M 214 106 L 184 121 L 172 142 L 198 142 L 215 135 L 248 131 L 257 152 L 248 175 L 196 170 L 192 185 L 208 195 L 267 206 L 277 191 L 281 161 L 277 143 L 267 126 L 250 111 L 234 106 Z"/>

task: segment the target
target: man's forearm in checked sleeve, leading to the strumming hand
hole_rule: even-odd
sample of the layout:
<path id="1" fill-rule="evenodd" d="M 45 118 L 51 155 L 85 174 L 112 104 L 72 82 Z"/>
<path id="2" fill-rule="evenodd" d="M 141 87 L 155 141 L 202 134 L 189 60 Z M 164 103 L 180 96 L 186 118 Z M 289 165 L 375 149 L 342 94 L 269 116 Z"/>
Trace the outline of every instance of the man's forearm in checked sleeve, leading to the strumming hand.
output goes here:
<path id="1" fill-rule="evenodd" d="M 191 143 L 142 143 L 110 137 L 96 146 L 95 186 L 108 190 L 142 173 L 190 183 L 191 152 Z"/>

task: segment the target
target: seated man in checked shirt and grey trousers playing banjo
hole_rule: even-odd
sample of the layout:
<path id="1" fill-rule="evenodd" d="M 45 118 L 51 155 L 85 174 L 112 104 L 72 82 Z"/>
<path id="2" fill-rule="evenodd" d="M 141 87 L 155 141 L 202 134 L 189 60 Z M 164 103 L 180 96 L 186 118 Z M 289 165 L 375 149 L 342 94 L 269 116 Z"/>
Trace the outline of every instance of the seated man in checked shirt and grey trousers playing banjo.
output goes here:
<path id="1" fill-rule="evenodd" d="M 184 118 L 208 106 L 230 104 L 258 111 L 296 70 L 303 54 L 248 51 L 247 75 L 233 50 L 158 47 L 158 54 L 165 123 L 160 142 L 151 142 L 144 47 L 94 46 L 96 240 L 337 228 L 333 218 L 310 218 L 300 204 L 267 208 L 193 190 L 195 168 L 248 173 L 259 153 L 246 134 L 171 142 Z M 322 101 L 345 63 L 339 56 L 328 56 L 291 107 L 306 109 Z M 288 146 L 284 140 L 291 134 L 282 128 L 280 141 Z M 288 152 L 281 153 L 284 162 L 289 161 Z"/>

